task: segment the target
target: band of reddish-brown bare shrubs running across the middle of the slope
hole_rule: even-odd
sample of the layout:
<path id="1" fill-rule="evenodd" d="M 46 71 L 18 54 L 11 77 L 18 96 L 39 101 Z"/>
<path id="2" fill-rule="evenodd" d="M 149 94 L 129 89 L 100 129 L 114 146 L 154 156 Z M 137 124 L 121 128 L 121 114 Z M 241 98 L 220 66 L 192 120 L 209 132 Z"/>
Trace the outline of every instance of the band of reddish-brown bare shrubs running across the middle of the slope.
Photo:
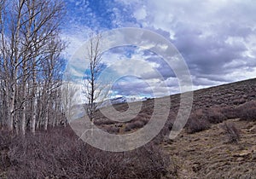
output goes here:
<path id="1" fill-rule="evenodd" d="M 173 114 L 172 117 L 175 118 Z M 256 120 L 256 101 L 247 101 L 240 106 L 226 106 L 226 107 L 209 107 L 203 109 L 194 110 L 186 124 L 185 128 L 189 134 L 200 132 L 203 130 L 208 130 L 211 127 L 211 124 L 222 123 L 229 118 L 241 118 L 243 120 Z M 129 123 L 125 124 L 125 131 L 137 130 L 142 128 L 145 124 L 148 123 L 150 119 L 148 113 L 140 113 L 137 118 L 132 119 Z M 164 136 L 172 130 L 171 119 L 168 119 L 166 126 L 161 130 L 160 135 L 155 137 L 156 143 L 159 143 Z M 104 123 L 105 124 L 105 123 Z M 168 127 L 169 126 L 169 127 Z M 115 133 L 113 130 L 109 130 L 112 133 Z"/>

